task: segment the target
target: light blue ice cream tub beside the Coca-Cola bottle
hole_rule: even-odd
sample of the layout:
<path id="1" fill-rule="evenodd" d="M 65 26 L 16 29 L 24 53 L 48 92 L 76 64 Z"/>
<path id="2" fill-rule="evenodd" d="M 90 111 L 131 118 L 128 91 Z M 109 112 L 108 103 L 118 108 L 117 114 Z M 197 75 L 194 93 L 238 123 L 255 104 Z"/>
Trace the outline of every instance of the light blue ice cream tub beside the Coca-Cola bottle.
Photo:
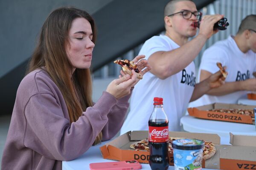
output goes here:
<path id="1" fill-rule="evenodd" d="M 201 170 L 204 141 L 178 139 L 172 141 L 175 170 Z"/>

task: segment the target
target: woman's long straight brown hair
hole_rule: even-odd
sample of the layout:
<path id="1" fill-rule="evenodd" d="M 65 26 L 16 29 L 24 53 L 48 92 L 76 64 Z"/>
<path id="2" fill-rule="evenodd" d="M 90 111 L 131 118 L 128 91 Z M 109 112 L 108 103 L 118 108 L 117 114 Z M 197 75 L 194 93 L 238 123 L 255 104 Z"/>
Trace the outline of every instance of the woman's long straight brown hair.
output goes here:
<path id="1" fill-rule="evenodd" d="M 55 9 L 44 22 L 27 71 L 29 73 L 45 66 L 49 76 L 64 97 L 70 123 L 77 121 L 87 107 L 93 106 L 90 69 L 76 69 L 72 74 L 72 66 L 65 49 L 71 23 L 78 17 L 83 17 L 89 21 L 93 32 L 92 41 L 95 43 L 96 28 L 90 14 L 73 7 Z M 94 144 L 101 140 L 102 133 L 96 137 Z"/>

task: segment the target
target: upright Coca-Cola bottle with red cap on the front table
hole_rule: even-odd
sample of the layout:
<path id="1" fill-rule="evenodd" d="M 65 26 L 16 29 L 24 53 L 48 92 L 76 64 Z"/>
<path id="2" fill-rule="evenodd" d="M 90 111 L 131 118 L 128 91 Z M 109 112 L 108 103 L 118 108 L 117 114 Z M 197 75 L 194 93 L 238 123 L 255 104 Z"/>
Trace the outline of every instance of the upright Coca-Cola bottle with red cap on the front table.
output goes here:
<path id="1" fill-rule="evenodd" d="M 151 170 L 169 167 L 168 118 L 163 111 L 163 98 L 154 98 L 154 109 L 148 121 L 149 165 Z"/>

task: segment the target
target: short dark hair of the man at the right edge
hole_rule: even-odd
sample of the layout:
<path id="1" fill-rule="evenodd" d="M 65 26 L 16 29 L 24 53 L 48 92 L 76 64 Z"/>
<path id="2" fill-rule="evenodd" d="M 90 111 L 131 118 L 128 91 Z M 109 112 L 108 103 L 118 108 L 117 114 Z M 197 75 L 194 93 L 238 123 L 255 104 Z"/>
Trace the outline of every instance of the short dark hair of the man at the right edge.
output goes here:
<path id="1" fill-rule="evenodd" d="M 247 15 L 247 17 L 242 20 L 237 34 L 241 34 L 247 29 L 256 31 L 256 14 Z"/>

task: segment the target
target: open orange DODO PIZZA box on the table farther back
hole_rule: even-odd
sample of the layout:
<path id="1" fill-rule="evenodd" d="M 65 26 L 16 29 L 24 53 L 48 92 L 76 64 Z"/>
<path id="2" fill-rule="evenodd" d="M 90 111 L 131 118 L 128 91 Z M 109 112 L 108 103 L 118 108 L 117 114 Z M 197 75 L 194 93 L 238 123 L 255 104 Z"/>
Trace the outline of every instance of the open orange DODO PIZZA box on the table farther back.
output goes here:
<path id="1" fill-rule="evenodd" d="M 223 104 L 214 103 L 208 104 L 201 107 L 190 107 L 188 108 L 189 115 L 196 118 L 210 119 L 216 121 L 230 121 L 236 123 L 255 124 L 255 119 L 250 115 L 240 115 L 233 113 L 222 113 L 208 111 L 209 109 L 251 109 L 253 110 L 256 106 L 242 105 L 242 104 Z"/>

